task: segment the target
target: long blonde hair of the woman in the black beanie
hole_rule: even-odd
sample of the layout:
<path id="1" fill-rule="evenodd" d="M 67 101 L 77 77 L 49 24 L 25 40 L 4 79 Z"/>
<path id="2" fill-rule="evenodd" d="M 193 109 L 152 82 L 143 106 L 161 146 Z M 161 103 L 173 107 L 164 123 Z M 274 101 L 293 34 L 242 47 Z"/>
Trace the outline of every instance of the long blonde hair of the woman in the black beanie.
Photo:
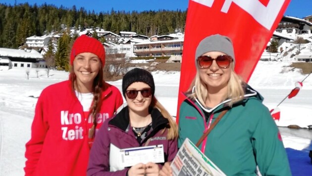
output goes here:
<path id="1" fill-rule="evenodd" d="M 173 120 L 172 116 L 169 114 L 169 112 L 159 103 L 159 101 L 156 99 L 155 96 L 152 96 L 152 102 L 151 102 L 151 107 L 157 108 L 161 115 L 168 119 L 169 121 L 169 128 L 165 128 L 162 132 L 164 132 L 165 130 L 168 130 L 167 133 L 167 139 L 171 140 L 171 139 L 176 139 L 178 138 L 178 127 L 177 124 L 175 123 L 175 121 Z"/>

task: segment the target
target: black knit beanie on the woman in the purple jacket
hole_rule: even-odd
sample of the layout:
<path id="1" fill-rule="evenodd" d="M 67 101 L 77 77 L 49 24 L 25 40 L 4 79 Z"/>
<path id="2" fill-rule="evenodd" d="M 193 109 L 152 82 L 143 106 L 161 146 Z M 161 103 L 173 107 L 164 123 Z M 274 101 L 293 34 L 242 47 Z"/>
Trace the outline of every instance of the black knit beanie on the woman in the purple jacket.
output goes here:
<path id="1" fill-rule="evenodd" d="M 122 94 L 125 96 L 127 88 L 135 82 L 143 82 L 148 84 L 152 89 L 152 95 L 154 96 L 155 93 L 155 84 L 153 76 L 150 72 L 141 69 L 141 68 L 134 68 L 127 72 L 122 79 Z"/>

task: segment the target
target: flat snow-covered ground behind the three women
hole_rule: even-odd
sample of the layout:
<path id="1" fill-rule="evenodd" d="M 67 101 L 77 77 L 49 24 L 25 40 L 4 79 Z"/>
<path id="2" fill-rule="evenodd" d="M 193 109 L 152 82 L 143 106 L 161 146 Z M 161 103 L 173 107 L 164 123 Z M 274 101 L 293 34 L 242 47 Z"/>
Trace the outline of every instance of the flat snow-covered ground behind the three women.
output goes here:
<path id="1" fill-rule="evenodd" d="M 257 65 L 249 84 L 264 97 L 264 104 L 273 109 L 295 88 L 295 83 L 307 75 L 288 67 L 290 62 L 262 62 Z M 25 69 L 0 71 L 0 176 L 22 176 L 25 164 L 25 143 L 30 138 L 30 127 L 37 98 L 48 85 L 67 80 L 68 73 L 45 69 L 31 69 L 27 80 Z M 156 97 L 170 114 L 176 115 L 180 72 L 153 72 Z M 109 82 L 121 89 L 121 80 Z M 278 126 L 312 125 L 312 75 L 308 77 L 298 95 L 286 99 L 279 108 Z M 312 150 L 312 131 L 299 134 L 280 128 L 285 147 Z M 304 135 L 303 135 L 304 134 Z"/>

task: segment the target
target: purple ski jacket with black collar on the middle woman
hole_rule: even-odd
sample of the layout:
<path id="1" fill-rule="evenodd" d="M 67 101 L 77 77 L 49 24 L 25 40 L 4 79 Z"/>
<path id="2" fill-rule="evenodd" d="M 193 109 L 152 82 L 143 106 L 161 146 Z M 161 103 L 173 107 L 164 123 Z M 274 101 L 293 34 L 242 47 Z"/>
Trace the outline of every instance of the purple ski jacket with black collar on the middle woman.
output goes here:
<path id="1" fill-rule="evenodd" d="M 172 161 L 178 151 L 177 139 L 167 140 L 168 120 L 156 109 L 152 109 L 152 129 L 141 144 L 135 138 L 129 123 L 128 106 L 115 117 L 106 120 L 95 137 L 90 151 L 87 176 L 126 176 L 129 168 L 120 171 L 109 171 L 110 144 L 120 149 L 163 144 L 165 162 Z M 163 132 L 163 130 L 165 131 Z M 147 142 L 148 141 L 148 142 Z M 161 168 L 164 163 L 161 163 Z"/>

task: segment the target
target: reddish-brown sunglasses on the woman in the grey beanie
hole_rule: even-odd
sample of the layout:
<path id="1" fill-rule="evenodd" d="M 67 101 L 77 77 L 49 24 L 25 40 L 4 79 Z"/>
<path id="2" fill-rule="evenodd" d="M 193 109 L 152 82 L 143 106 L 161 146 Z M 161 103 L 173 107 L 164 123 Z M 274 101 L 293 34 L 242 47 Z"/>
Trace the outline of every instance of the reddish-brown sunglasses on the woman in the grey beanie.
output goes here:
<path id="1" fill-rule="evenodd" d="M 230 63 L 233 61 L 232 57 L 229 55 L 219 55 L 216 58 L 212 58 L 208 55 L 202 55 L 197 58 L 197 63 L 200 68 L 209 68 L 213 60 L 215 60 L 220 68 L 228 68 Z"/>

